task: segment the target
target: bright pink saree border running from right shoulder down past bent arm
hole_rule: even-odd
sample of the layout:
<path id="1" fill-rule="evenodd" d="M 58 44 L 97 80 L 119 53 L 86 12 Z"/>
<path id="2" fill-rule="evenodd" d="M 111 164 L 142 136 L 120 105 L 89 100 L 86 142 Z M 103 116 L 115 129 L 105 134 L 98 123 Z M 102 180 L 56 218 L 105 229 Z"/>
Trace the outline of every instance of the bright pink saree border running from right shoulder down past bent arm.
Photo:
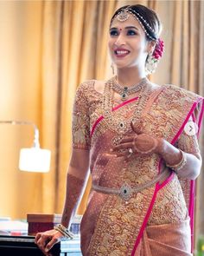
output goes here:
<path id="1" fill-rule="evenodd" d="M 196 102 L 193 103 L 193 106 L 192 108 L 190 109 L 190 111 L 188 112 L 188 115 L 187 117 L 185 118 L 185 120 L 183 121 L 182 123 L 182 127 L 179 129 L 179 131 L 177 132 L 177 134 L 175 135 L 175 137 L 172 139 L 171 141 L 171 144 L 174 144 L 175 141 L 178 139 L 178 137 L 182 134 L 182 130 L 183 128 L 185 127 L 190 115 L 193 114 L 194 112 L 194 108 L 197 106 L 197 104 L 199 102 L 202 101 L 202 107 L 201 107 L 201 115 L 199 116 L 199 121 L 198 121 L 198 127 L 199 127 L 199 131 L 200 131 L 200 128 L 201 128 L 201 121 L 202 121 L 202 116 L 203 116 L 203 113 L 204 113 L 204 98 L 199 98 Z M 199 133 L 199 132 L 198 132 Z M 159 161 L 159 164 L 158 164 L 158 173 L 160 172 L 160 168 L 161 168 L 161 163 L 162 163 L 162 159 L 160 159 Z M 152 199 L 151 199 L 151 202 L 150 202 L 150 207 L 148 208 L 148 211 L 144 217 L 144 220 L 143 220 L 143 225 L 141 226 L 140 228 L 140 231 L 137 235 L 137 240 L 135 242 L 135 245 L 132 249 L 132 252 L 131 252 L 131 256 L 134 256 L 136 250 L 137 250 L 137 246 L 143 236 L 143 230 L 147 224 L 147 221 L 149 220 L 149 217 L 150 217 L 150 213 L 151 213 L 151 210 L 154 206 L 154 203 L 156 201 L 156 194 L 157 192 L 162 189 L 163 187 L 165 187 L 169 181 L 172 181 L 172 179 L 174 178 L 174 173 L 170 174 L 170 176 L 167 178 L 167 180 L 163 181 L 162 184 L 159 184 L 159 182 L 156 183 L 156 187 L 155 187 L 155 191 L 154 191 L 154 194 L 152 196 Z M 191 239 L 192 239 L 192 243 L 191 243 L 191 251 L 193 252 L 193 249 L 194 249 L 194 191 L 195 191 L 195 182 L 194 181 L 191 181 L 191 184 L 190 184 L 190 200 L 189 200 L 189 207 L 188 207 L 188 215 L 190 216 L 190 226 L 191 226 Z"/>

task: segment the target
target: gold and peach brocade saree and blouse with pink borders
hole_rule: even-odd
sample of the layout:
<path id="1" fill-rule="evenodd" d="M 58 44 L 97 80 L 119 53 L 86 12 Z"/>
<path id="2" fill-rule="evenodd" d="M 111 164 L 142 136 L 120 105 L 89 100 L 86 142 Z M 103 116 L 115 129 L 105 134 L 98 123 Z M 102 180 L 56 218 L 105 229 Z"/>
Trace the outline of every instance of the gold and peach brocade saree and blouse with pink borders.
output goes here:
<path id="1" fill-rule="evenodd" d="M 94 184 L 137 187 L 153 180 L 165 166 L 158 154 L 132 156 L 129 161 L 110 154 L 118 141 L 130 135 L 132 120 L 143 133 L 163 137 L 188 153 L 199 151 L 197 135 L 183 131 L 188 121 L 201 125 L 199 95 L 163 85 L 143 91 L 141 99 L 116 100 L 111 111 L 105 105 L 108 96 L 107 90 L 102 95 L 94 89 L 94 81 L 84 82 L 73 108 L 73 148 L 90 150 Z M 190 181 L 175 173 L 162 184 L 132 193 L 128 200 L 92 189 L 80 226 L 83 255 L 191 255 L 192 189 Z"/>

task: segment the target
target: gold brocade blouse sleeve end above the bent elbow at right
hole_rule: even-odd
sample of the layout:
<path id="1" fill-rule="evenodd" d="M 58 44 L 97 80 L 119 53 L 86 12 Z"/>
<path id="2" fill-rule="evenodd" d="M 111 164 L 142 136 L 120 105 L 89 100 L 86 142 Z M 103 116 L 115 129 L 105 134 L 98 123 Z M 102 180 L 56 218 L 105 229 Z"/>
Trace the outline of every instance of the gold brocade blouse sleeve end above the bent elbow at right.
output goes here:
<path id="1" fill-rule="evenodd" d="M 190 118 L 189 121 L 193 123 L 193 119 Z M 194 124 L 196 127 L 196 124 Z M 195 128 L 196 130 L 196 128 Z M 196 134 L 190 135 L 188 132 L 184 130 L 182 131 L 182 135 L 176 142 L 176 147 L 182 149 L 182 151 L 189 154 L 197 154 L 200 153 L 198 138 Z"/>

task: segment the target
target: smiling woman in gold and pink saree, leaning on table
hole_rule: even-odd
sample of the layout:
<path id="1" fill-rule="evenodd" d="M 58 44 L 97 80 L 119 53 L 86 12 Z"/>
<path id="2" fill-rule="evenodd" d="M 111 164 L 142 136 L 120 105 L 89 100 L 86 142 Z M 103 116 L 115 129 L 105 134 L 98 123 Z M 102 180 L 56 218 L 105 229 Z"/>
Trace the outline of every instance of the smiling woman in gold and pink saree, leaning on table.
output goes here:
<path id="1" fill-rule="evenodd" d="M 160 32 L 156 13 L 143 5 L 124 6 L 112 16 L 108 46 L 117 75 L 77 90 L 61 225 L 35 238 L 44 253 L 72 236 L 68 228 L 90 159 L 92 190 L 80 226 L 83 255 L 192 255 L 191 180 L 201 170 L 203 99 L 146 77 L 163 53 Z"/>

